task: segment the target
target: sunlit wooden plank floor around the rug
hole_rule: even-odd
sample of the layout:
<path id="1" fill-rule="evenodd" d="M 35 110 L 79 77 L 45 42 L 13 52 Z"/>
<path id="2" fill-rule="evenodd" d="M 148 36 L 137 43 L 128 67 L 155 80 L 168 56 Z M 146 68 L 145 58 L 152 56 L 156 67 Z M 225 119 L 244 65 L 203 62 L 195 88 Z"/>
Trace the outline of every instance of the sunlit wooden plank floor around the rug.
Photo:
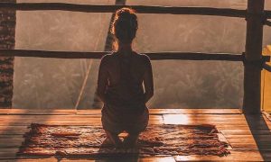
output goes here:
<path id="1" fill-rule="evenodd" d="M 263 115 L 241 114 L 238 109 L 152 109 L 150 123 L 155 124 L 215 124 L 229 141 L 231 154 L 215 156 L 155 156 L 139 159 L 92 159 L 94 161 L 185 161 L 185 160 L 244 160 L 271 161 L 271 121 Z M 15 154 L 23 141 L 23 134 L 32 122 L 46 124 L 101 124 L 100 110 L 22 110 L 0 109 L 0 159 L 5 161 L 37 161 L 18 159 Z M 222 137 L 222 138 L 223 138 Z M 42 158 L 40 161 L 57 161 Z M 61 159 L 68 161 L 69 159 Z M 76 161 L 89 159 L 76 159 Z"/>

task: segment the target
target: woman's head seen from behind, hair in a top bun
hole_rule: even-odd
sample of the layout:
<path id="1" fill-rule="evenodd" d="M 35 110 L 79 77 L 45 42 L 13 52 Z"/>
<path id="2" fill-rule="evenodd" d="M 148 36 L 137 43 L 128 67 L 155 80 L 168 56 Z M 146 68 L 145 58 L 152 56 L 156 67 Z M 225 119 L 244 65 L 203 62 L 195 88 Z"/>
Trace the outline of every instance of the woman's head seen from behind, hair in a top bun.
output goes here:
<path id="1" fill-rule="evenodd" d="M 115 35 L 120 43 L 132 43 L 137 31 L 137 16 L 131 8 L 121 8 L 117 10 L 111 33 Z"/>

